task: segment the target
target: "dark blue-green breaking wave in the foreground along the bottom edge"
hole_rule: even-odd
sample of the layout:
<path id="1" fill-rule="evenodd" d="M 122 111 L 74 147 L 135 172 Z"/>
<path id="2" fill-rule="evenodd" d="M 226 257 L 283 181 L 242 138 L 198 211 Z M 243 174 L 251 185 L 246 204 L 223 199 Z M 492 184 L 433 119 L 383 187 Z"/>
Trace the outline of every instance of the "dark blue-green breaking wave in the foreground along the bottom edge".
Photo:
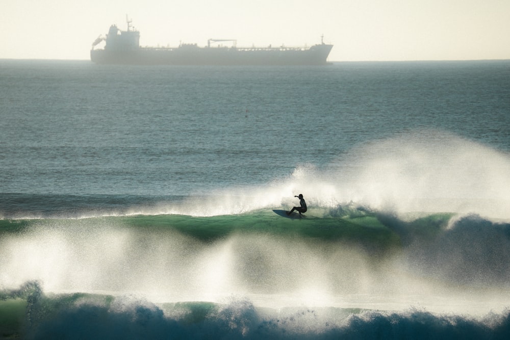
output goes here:
<path id="1" fill-rule="evenodd" d="M 7 304 L 9 303 L 9 305 Z M 438 314 L 420 308 L 391 312 L 360 308 L 257 308 L 230 297 L 222 303 L 154 304 L 133 297 L 45 295 L 37 282 L 0 292 L 3 337 L 244 338 L 244 339 L 503 339 L 510 312 L 483 317 Z M 8 307 L 7 307 L 8 306 Z M 13 317 L 14 316 L 14 317 Z"/>

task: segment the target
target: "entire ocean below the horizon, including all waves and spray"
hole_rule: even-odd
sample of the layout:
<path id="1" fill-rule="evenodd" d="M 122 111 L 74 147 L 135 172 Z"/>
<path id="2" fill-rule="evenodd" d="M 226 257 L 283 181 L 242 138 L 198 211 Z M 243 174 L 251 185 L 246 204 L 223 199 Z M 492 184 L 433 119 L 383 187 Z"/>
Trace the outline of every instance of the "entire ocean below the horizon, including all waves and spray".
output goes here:
<path id="1" fill-rule="evenodd" d="M 0 339 L 510 337 L 510 61 L 0 60 L 0 122 Z"/>

